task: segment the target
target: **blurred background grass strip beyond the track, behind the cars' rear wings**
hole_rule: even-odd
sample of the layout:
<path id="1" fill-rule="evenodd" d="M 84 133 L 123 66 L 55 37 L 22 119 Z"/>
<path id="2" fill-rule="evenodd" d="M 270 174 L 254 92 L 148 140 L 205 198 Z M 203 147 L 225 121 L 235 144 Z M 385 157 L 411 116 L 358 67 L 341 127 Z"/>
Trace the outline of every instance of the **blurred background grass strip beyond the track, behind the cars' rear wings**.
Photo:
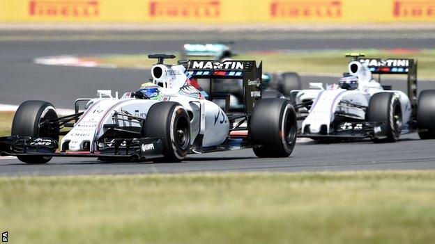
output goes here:
<path id="1" fill-rule="evenodd" d="M 435 49 L 421 50 L 327 50 L 294 52 L 248 52 L 236 56 L 240 60 L 263 60 L 264 70 L 268 72 L 293 71 L 309 74 L 334 74 L 339 76 L 347 70 L 348 60 L 344 54 L 361 52 L 373 58 L 416 58 L 418 59 L 418 77 L 435 79 Z M 177 54 L 178 56 L 178 54 Z M 100 63 L 118 65 L 119 67 L 151 67 L 155 60 L 146 54 L 113 55 L 87 57 Z M 167 63 L 171 63 L 169 60 Z M 174 63 L 174 62 L 173 62 Z"/>

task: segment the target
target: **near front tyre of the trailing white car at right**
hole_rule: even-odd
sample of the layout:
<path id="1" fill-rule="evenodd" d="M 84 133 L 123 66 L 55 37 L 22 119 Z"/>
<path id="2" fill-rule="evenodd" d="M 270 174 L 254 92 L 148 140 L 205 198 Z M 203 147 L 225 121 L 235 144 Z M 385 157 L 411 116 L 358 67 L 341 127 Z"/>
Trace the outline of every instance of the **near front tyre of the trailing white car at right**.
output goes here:
<path id="1" fill-rule="evenodd" d="M 367 121 L 383 122 L 382 133 L 386 138 L 373 139 L 374 143 L 394 143 L 402 132 L 402 106 L 394 92 L 375 93 L 367 108 Z"/>

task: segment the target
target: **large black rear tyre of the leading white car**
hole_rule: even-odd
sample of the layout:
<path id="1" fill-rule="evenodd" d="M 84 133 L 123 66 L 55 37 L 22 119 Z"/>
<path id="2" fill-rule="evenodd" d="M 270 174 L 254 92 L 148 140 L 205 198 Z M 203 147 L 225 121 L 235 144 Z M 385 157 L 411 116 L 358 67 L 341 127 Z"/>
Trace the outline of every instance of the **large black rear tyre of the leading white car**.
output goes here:
<path id="1" fill-rule="evenodd" d="M 257 101 L 251 117 L 250 136 L 259 158 L 287 157 L 296 145 L 298 124 L 290 101 L 265 98 Z"/>

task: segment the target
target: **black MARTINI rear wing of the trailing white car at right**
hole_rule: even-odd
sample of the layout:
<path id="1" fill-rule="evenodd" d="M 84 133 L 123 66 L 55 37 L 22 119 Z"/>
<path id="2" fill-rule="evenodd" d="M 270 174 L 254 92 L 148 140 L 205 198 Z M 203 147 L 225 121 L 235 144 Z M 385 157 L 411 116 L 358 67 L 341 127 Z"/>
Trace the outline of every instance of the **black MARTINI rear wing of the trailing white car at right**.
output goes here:
<path id="1" fill-rule="evenodd" d="M 361 63 L 366 63 L 372 74 L 406 74 L 408 76 L 408 96 L 411 105 L 417 105 L 417 60 L 406 58 L 358 58 Z M 415 109 L 413 109 L 415 111 Z"/>

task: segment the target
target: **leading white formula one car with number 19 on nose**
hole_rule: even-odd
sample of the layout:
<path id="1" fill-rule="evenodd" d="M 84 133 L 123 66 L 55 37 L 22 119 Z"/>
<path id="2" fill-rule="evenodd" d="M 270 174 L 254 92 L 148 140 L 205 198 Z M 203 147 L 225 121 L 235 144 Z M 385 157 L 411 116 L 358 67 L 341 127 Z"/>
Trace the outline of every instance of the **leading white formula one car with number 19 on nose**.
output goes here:
<path id="1" fill-rule="evenodd" d="M 158 58 L 153 83 L 121 99 L 99 90 L 97 98 L 77 99 L 76 113 L 63 117 L 49 102 L 25 101 L 15 113 L 12 136 L 0 138 L 1 155 L 24 163 L 47 163 L 53 156 L 179 162 L 188 154 L 249 147 L 259 157 L 287 157 L 293 151 L 296 113 L 286 99 L 260 100 L 261 64 L 183 60 L 165 65 L 165 58 L 175 56 L 148 57 Z M 197 78 L 243 80 L 243 112 L 226 113 L 229 94 L 208 95 Z M 222 99 L 223 109 L 213 102 Z M 85 110 L 79 112 L 84 101 Z"/>

